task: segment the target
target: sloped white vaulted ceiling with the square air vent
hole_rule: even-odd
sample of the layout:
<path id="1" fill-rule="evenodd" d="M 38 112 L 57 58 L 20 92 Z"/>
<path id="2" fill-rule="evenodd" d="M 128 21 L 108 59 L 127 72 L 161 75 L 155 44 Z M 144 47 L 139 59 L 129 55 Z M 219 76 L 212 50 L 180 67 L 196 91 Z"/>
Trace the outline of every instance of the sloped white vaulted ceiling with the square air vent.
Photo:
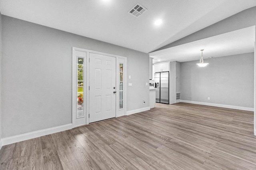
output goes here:
<path id="1" fill-rule="evenodd" d="M 148 10 L 135 18 L 128 11 L 137 3 Z M 145 53 L 253 6 L 256 0 L 0 0 L 3 15 Z"/>

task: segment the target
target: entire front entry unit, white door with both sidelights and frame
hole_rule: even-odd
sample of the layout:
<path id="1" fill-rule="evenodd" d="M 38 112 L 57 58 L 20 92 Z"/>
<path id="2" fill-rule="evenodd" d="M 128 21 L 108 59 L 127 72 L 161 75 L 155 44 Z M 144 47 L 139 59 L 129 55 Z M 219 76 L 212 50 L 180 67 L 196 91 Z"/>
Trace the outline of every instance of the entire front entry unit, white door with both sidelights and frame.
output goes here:
<path id="1" fill-rule="evenodd" d="M 73 127 L 123 115 L 126 115 L 126 57 L 73 47 Z"/>

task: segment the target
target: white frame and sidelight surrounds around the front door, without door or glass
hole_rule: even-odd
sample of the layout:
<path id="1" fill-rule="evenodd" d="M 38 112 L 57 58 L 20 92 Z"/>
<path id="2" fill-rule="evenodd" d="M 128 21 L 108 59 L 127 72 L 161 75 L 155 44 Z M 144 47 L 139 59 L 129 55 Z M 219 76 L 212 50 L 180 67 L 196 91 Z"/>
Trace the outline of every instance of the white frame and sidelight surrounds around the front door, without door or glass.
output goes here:
<path id="1" fill-rule="evenodd" d="M 85 91 L 85 95 L 84 95 L 84 99 L 86 100 L 84 102 L 84 106 L 86 107 L 86 109 L 84 110 L 85 113 L 85 117 L 80 117 L 80 118 L 76 118 L 76 112 L 77 112 L 77 84 L 76 84 L 76 79 L 77 79 L 77 66 L 76 66 L 76 54 L 82 52 L 84 53 L 84 58 L 86 59 L 86 65 L 85 65 L 85 70 L 86 73 L 84 75 L 84 88 L 86 88 Z M 124 81 L 124 109 L 122 110 L 122 113 L 120 112 L 119 109 L 116 109 L 116 117 L 120 117 L 122 115 L 126 115 L 126 95 L 127 95 L 127 89 L 126 89 L 126 82 L 127 82 L 127 58 L 126 57 L 122 57 L 119 55 L 112 55 L 112 54 L 108 54 L 108 53 L 102 53 L 102 52 L 98 52 L 98 51 L 92 51 L 92 50 L 87 50 L 87 49 L 81 49 L 81 48 L 77 48 L 77 47 L 72 47 L 72 127 L 78 127 L 78 126 L 82 126 L 82 125 L 88 125 L 89 124 L 89 76 L 90 76 L 90 64 L 89 64 L 89 58 L 90 58 L 90 53 L 95 53 L 95 54 L 100 54 L 100 55 L 106 55 L 106 56 L 110 56 L 110 57 L 115 57 L 116 58 L 116 68 L 119 67 L 119 60 L 124 61 L 124 77 L 123 77 L 123 81 Z M 116 78 L 119 75 L 119 70 L 116 69 Z M 116 87 L 117 87 L 118 82 L 116 81 Z M 117 95 L 116 95 L 117 96 Z M 119 100 L 116 97 L 116 108 L 117 108 L 117 104 L 119 104 Z M 119 113 L 120 112 L 120 113 Z M 80 119 L 79 121 L 76 121 Z"/>

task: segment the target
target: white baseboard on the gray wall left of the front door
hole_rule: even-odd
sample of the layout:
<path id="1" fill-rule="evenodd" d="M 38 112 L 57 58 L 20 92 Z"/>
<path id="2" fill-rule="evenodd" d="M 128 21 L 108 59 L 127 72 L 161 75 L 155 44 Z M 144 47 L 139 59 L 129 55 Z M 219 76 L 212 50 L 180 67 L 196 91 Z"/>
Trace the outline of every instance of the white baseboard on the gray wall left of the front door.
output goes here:
<path id="1" fill-rule="evenodd" d="M 52 127 L 52 128 L 48 128 L 48 129 L 44 129 L 44 130 L 40 130 L 40 131 L 24 133 L 22 135 L 6 137 L 6 138 L 2 139 L 2 145 L 3 146 L 4 145 L 9 145 L 9 144 L 12 144 L 12 143 L 25 141 L 25 140 L 28 140 L 28 139 L 33 139 L 33 138 L 41 137 L 41 136 L 44 136 L 44 135 L 50 135 L 52 133 L 66 131 L 66 130 L 69 130 L 69 129 L 72 129 L 72 123 L 67 124 L 67 125 Z"/>

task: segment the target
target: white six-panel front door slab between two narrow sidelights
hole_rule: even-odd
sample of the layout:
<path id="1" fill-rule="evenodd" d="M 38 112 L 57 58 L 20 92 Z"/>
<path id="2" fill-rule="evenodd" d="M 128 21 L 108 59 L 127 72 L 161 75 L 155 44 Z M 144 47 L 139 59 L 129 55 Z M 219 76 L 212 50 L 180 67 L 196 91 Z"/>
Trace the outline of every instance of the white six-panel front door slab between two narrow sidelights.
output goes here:
<path id="1" fill-rule="evenodd" d="M 90 53 L 89 123 L 116 117 L 116 58 Z"/>

